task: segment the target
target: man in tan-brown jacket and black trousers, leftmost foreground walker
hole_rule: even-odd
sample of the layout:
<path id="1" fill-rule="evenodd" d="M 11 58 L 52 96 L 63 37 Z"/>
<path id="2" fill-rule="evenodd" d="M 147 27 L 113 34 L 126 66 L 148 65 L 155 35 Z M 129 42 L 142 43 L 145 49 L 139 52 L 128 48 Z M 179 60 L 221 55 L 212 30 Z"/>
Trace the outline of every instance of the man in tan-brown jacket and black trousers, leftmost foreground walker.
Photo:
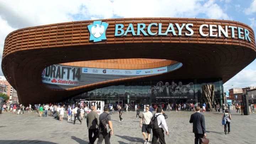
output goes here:
<path id="1" fill-rule="evenodd" d="M 96 112 L 96 106 L 91 106 L 91 112 L 87 114 L 86 123 L 89 134 L 89 144 L 94 144 L 99 132 L 99 118 Z M 92 134 L 94 135 L 93 137 Z"/>

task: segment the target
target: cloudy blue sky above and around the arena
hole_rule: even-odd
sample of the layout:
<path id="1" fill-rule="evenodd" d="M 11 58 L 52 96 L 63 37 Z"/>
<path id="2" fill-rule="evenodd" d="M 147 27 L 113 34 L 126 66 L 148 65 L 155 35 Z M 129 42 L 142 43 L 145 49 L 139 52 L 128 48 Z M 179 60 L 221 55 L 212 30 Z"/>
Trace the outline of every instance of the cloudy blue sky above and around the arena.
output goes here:
<path id="1" fill-rule="evenodd" d="M 256 0 L 0 0 L 0 63 L 7 34 L 20 28 L 70 21 L 130 17 L 231 20 L 256 33 Z M 2 76 L 0 69 L 0 76 Z M 224 84 L 256 86 L 256 60 Z"/>

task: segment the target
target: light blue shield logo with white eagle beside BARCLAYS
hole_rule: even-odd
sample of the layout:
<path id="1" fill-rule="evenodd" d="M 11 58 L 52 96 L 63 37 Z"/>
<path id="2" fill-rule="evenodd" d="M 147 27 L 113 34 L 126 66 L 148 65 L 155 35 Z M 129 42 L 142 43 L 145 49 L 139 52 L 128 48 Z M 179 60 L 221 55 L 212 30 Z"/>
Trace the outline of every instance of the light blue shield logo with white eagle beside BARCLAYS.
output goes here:
<path id="1" fill-rule="evenodd" d="M 101 21 L 94 21 L 93 24 L 87 26 L 90 31 L 90 41 L 100 42 L 106 38 L 106 30 L 108 27 L 108 23 Z"/>

